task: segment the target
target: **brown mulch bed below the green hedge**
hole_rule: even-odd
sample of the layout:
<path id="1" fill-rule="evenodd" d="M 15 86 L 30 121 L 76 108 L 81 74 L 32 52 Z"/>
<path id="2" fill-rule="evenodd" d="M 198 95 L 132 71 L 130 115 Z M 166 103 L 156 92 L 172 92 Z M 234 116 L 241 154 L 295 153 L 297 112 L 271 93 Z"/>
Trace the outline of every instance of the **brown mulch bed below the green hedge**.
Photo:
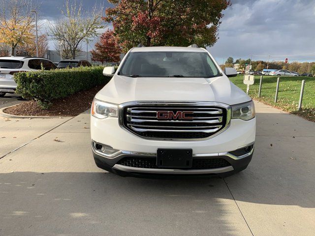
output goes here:
<path id="1" fill-rule="evenodd" d="M 74 117 L 91 108 L 95 94 L 103 87 L 96 86 L 66 98 L 56 99 L 49 110 L 42 110 L 35 101 L 28 101 L 9 107 L 3 112 L 15 116 Z"/>

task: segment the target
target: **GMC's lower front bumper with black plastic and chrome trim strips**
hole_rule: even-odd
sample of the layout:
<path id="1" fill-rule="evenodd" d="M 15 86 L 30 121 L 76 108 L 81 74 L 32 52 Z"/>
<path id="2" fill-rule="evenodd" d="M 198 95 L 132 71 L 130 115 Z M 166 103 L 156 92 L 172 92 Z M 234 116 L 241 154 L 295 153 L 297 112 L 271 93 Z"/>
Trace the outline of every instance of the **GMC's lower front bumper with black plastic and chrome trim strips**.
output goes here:
<path id="1" fill-rule="evenodd" d="M 190 168 L 190 169 L 172 169 L 172 168 L 145 168 L 143 166 L 134 167 L 120 164 L 124 158 L 149 158 L 156 161 L 156 153 L 133 152 L 124 150 L 114 150 L 111 154 L 106 154 L 97 150 L 95 145 L 98 143 L 92 141 L 92 150 L 96 165 L 106 171 L 120 176 L 138 176 L 138 175 L 219 175 L 221 177 L 229 176 L 236 172 L 244 170 L 252 159 L 254 151 L 253 143 L 246 145 L 231 152 L 192 154 L 193 160 L 219 160 L 224 159 L 229 164 L 218 168 Z M 243 150 L 248 148 L 248 151 Z"/>

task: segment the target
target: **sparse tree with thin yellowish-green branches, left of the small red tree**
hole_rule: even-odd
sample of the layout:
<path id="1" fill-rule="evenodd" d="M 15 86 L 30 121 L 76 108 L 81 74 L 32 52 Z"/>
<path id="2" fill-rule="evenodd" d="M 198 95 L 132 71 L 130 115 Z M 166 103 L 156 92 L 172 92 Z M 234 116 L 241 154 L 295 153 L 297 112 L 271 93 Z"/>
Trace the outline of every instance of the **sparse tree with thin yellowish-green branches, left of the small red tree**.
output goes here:
<path id="1" fill-rule="evenodd" d="M 48 34 L 52 40 L 63 41 L 75 59 L 82 41 L 91 41 L 105 27 L 101 20 L 104 8 L 95 4 L 91 11 L 84 11 L 82 2 L 76 0 L 65 0 L 64 8 L 63 18 L 49 24 Z"/>

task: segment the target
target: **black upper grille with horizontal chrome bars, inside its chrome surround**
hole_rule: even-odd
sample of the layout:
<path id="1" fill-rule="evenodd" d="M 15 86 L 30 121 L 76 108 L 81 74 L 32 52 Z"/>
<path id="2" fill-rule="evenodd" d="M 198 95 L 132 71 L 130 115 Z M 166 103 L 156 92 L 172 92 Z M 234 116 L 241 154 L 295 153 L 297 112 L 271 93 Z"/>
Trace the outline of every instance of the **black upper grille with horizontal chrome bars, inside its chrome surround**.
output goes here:
<path id="1" fill-rule="evenodd" d="M 157 118 L 158 111 L 173 117 Z M 174 114 L 190 112 L 186 118 Z M 181 115 L 179 114 L 179 115 Z M 169 104 L 131 105 L 123 108 L 123 125 L 144 138 L 203 139 L 221 131 L 227 123 L 227 109 L 219 106 Z"/>

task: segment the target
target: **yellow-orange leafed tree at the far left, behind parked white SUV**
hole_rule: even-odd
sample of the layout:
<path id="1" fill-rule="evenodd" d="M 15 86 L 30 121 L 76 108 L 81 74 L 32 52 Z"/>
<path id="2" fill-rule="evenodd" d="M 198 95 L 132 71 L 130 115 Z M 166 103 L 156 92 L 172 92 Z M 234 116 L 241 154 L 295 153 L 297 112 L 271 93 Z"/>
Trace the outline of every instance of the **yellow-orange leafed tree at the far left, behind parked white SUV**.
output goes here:
<path id="1" fill-rule="evenodd" d="M 34 38 L 34 16 L 36 9 L 30 0 L 0 0 L 0 43 L 11 47 L 11 55 L 20 45 L 31 43 Z"/>

